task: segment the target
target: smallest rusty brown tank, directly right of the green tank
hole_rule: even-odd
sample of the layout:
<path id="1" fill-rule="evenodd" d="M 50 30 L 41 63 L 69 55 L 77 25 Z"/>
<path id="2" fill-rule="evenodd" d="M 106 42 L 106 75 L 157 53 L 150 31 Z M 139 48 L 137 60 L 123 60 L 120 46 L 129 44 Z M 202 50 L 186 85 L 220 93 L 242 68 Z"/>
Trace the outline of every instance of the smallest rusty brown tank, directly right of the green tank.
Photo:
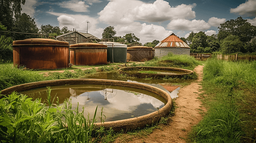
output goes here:
<path id="1" fill-rule="evenodd" d="M 127 48 L 127 60 L 149 61 L 153 59 L 154 49 L 146 46 L 133 46 Z"/>

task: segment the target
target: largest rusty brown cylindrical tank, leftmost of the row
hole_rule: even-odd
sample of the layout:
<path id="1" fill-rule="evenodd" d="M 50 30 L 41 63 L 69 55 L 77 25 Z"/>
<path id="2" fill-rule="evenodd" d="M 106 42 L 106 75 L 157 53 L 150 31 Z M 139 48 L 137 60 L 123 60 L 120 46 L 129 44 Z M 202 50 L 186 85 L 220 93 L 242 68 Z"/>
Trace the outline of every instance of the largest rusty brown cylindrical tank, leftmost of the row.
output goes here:
<path id="1" fill-rule="evenodd" d="M 12 42 L 13 65 L 29 69 L 59 69 L 68 67 L 69 44 L 53 39 L 25 39 Z"/>

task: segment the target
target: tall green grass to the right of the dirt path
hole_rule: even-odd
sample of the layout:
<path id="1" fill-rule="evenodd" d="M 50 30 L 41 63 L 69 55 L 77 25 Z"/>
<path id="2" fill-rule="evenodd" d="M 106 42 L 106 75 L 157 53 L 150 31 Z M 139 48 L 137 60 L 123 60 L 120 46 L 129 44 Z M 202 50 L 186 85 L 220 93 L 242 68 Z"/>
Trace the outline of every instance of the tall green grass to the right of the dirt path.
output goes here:
<path id="1" fill-rule="evenodd" d="M 255 143 L 256 61 L 210 59 L 203 73 L 201 101 L 208 112 L 190 133 L 190 141 Z"/>

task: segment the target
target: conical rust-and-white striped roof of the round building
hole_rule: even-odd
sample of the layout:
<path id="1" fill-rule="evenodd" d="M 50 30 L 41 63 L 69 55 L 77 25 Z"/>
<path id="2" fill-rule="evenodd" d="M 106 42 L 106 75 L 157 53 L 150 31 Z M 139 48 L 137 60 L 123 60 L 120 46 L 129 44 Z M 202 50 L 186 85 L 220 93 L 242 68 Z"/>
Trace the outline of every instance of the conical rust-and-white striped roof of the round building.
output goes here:
<path id="1" fill-rule="evenodd" d="M 172 33 L 166 39 L 160 41 L 155 48 L 189 48 L 189 45 Z"/>

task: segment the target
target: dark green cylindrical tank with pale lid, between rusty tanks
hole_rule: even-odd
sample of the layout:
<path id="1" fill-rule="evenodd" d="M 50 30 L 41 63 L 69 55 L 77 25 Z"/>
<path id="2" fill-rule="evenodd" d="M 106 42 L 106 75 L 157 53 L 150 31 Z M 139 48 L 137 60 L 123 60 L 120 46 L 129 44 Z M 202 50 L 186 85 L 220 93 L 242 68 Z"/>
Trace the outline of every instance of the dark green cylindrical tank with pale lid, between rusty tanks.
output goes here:
<path id="1" fill-rule="evenodd" d="M 99 42 L 108 46 L 109 62 L 126 62 L 127 45 L 118 42 Z"/>

